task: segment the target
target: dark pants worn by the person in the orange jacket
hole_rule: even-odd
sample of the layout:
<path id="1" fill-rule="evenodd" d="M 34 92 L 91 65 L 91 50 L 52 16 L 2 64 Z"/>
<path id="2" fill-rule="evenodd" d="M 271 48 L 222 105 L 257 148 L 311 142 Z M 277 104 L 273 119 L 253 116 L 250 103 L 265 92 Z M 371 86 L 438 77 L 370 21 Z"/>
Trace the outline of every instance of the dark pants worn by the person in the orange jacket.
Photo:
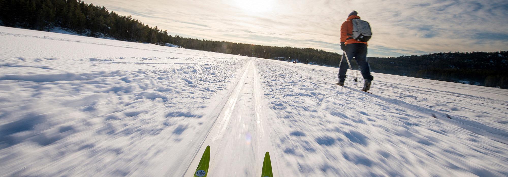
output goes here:
<path id="1" fill-rule="evenodd" d="M 367 62 L 367 45 L 365 43 L 348 44 L 346 45 L 346 50 L 344 52 L 350 60 L 350 63 L 353 57 L 355 57 L 356 63 L 358 63 L 364 79 L 374 79 L 374 77 L 370 75 L 370 66 Z M 346 56 L 342 55 L 339 63 L 339 81 L 344 81 L 346 79 L 347 67 Z"/>

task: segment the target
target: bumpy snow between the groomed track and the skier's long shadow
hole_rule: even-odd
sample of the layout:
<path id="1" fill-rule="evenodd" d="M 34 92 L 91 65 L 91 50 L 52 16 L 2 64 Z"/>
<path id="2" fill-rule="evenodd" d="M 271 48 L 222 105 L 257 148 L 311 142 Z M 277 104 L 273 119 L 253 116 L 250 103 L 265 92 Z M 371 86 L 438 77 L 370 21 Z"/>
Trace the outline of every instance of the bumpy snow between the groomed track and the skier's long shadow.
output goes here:
<path id="1" fill-rule="evenodd" d="M 376 99 L 359 91 L 361 82 L 356 86 L 351 76 L 348 79 L 351 82 L 346 84 L 356 87 L 358 92 L 334 85 L 337 71 L 309 69 L 303 64 L 287 62 L 269 67 L 274 64 L 265 61 L 257 66 L 260 78 L 265 78 L 262 82 L 268 90 L 265 95 L 271 101 L 270 107 L 280 110 L 276 111 L 274 124 L 290 127 L 274 128 L 279 135 L 275 154 L 288 162 L 279 166 L 279 170 L 286 170 L 281 173 L 296 176 L 506 174 L 505 144 L 435 119 L 430 113 L 396 105 L 400 101 Z M 372 92 L 381 96 L 384 95 L 377 94 L 378 87 L 398 81 L 379 80 L 373 82 L 376 85 Z M 402 92 L 405 88 L 393 89 Z"/>

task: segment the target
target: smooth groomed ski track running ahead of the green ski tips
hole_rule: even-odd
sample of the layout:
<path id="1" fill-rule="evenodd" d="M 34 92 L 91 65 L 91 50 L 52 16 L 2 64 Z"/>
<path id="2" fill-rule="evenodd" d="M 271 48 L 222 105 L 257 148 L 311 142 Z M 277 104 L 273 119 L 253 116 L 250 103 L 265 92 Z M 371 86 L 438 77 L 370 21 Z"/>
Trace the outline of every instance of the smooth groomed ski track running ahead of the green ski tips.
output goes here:
<path id="1" fill-rule="evenodd" d="M 184 176 L 191 176 L 210 145 L 208 176 L 259 176 L 272 145 L 254 60 L 250 60 Z M 273 163 L 275 164 L 275 163 Z M 276 171 L 276 170 L 275 170 Z"/>

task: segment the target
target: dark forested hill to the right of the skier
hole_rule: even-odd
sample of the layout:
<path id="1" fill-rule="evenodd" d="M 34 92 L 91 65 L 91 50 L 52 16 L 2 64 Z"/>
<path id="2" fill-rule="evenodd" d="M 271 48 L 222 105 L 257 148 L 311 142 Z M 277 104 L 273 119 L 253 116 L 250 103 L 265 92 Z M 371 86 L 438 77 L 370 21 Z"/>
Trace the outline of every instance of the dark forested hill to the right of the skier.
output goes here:
<path id="1" fill-rule="evenodd" d="M 369 57 L 374 72 L 508 89 L 508 51 Z"/>

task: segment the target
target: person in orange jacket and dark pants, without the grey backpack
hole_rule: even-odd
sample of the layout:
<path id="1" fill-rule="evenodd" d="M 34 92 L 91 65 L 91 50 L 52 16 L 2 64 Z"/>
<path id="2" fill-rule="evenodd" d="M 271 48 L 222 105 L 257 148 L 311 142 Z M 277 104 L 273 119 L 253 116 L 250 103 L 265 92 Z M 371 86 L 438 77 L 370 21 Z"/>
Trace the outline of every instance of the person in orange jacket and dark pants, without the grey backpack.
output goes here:
<path id="1" fill-rule="evenodd" d="M 358 63 L 360 67 L 360 71 L 362 72 L 362 76 L 364 79 L 363 91 L 368 91 L 370 89 L 370 83 L 374 79 L 372 75 L 370 75 L 370 66 L 367 62 L 367 42 L 355 40 L 353 35 L 353 19 L 360 19 L 357 16 L 358 13 L 356 11 L 351 12 L 351 14 L 347 17 L 347 20 L 342 23 L 340 26 L 340 49 L 344 51 L 345 55 L 342 55 L 339 64 L 339 82 L 337 85 L 344 85 L 344 80 L 346 79 L 347 72 L 347 59 L 352 59 L 353 57 Z M 347 57 L 347 59 L 344 59 Z"/>

